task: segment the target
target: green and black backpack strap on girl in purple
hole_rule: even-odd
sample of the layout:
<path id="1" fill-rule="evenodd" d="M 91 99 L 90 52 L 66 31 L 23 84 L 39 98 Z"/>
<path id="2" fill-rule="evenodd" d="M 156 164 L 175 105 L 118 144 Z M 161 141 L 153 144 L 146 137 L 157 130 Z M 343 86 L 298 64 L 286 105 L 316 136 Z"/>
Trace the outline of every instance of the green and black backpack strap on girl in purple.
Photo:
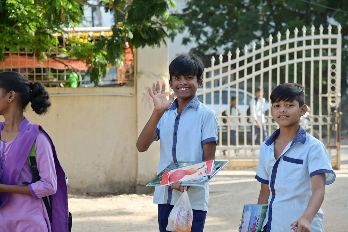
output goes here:
<path id="1" fill-rule="evenodd" d="M 39 134 L 41 132 L 43 132 L 43 130 L 39 129 Z M 22 184 L 32 184 L 32 183 L 35 183 L 37 181 L 40 181 L 40 179 L 41 179 L 41 177 L 39 175 L 38 165 L 36 162 L 35 144 L 36 144 L 36 139 L 33 143 L 33 146 L 31 147 L 30 153 L 28 155 L 28 163 L 29 163 L 31 172 L 33 173 L 33 178 L 31 180 L 31 183 L 24 181 L 24 182 L 22 182 Z M 42 200 L 44 201 L 45 206 L 46 206 L 49 222 L 52 223 L 52 208 L 51 208 L 50 203 L 49 203 L 49 202 L 52 202 L 51 196 L 49 196 L 49 201 L 48 201 L 48 197 L 43 197 Z"/>

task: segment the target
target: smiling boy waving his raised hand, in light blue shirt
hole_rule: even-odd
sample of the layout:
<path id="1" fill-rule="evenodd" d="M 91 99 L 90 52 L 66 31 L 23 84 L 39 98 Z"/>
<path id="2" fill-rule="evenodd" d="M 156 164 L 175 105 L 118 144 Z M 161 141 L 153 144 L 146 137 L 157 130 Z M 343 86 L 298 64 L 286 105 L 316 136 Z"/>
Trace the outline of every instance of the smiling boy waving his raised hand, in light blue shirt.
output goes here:
<path id="1" fill-rule="evenodd" d="M 196 96 L 203 80 L 204 65 L 197 56 L 182 55 L 169 65 L 169 85 L 174 94 L 165 95 L 165 84 L 152 84 L 149 94 L 155 109 L 139 135 L 136 147 L 148 150 L 153 141 L 160 140 L 158 173 L 173 161 L 205 161 L 215 159 L 218 121 L 210 107 Z M 166 231 L 168 216 L 181 193 L 188 190 L 174 182 L 171 186 L 156 186 L 153 203 L 158 204 L 159 231 Z M 193 211 L 191 231 L 203 231 L 208 210 L 209 185 L 193 186 L 188 190 Z"/>

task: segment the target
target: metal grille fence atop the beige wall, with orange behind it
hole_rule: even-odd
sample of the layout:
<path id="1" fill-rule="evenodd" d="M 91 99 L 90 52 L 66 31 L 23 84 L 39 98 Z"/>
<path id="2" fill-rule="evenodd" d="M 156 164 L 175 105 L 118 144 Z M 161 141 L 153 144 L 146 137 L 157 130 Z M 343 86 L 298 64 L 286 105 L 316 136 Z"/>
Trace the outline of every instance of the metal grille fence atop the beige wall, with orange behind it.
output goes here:
<path id="1" fill-rule="evenodd" d="M 65 29 L 65 34 L 54 34 L 59 44 L 57 48 L 66 48 L 69 45 L 67 38 L 74 37 L 80 42 L 101 40 L 103 37 L 110 38 L 110 27 L 81 27 Z M 0 62 L 1 71 L 16 71 L 28 77 L 31 81 L 40 81 L 46 86 L 61 87 L 90 87 L 87 73 L 88 66 L 77 58 L 64 57 L 63 54 L 51 53 L 45 62 L 38 62 L 35 53 L 27 49 L 18 48 L 17 53 L 5 54 L 6 61 Z M 122 68 L 110 67 L 104 79 L 98 82 L 98 86 L 124 85 L 134 80 L 133 51 L 126 45 L 126 61 Z"/>

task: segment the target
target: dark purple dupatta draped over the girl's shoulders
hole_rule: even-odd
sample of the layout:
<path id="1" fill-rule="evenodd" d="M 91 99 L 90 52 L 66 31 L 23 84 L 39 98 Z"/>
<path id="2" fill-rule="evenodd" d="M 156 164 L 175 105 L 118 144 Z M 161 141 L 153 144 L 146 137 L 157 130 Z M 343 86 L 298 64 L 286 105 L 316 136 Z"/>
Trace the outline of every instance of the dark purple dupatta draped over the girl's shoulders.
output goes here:
<path id="1" fill-rule="evenodd" d="M 5 121 L 0 122 L 0 130 L 5 125 Z M 28 158 L 31 147 L 39 135 L 39 128 L 42 129 L 47 135 L 48 133 L 37 124 L 29 122 L 26 118 L 19 125 L 19 134 L 15 138 L 10 150 L 9 155 L 6 158 L 6 165 L 3 167 L 1 175 L 1 184 L 16 185 L 18 182 L 19 174 Z M 49 137 L 49 135 L 48 135 Z M 61 163 L 58 160 L 55 146 L 52 139 L 49 137 L 52 144 L 53 158 L 57 175 L 57 191 L 51 196 L 52 207 L 52 231 L 68 231 L 68 186 L 66 185 L 65 172 Z M 0 194 L 0 207 L 2 207 L 11 193 Z"/>

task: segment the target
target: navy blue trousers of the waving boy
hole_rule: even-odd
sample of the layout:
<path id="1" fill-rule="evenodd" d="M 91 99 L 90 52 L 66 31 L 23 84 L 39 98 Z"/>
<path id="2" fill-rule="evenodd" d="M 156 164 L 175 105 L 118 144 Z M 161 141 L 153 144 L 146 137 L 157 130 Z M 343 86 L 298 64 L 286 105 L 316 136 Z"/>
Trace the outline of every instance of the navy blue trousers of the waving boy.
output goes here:
<path id="1" fill-rule="evenodd" d="M 158 226 L 159 231 L 167 231 L 168 217 L 169 213 L 174 206 L 169 204 L 158 204 Z M 207 211 L 192 209 L 193 220 L 191 226 L 191 232 L 203 232 L 205 218 L 207 216 Z"/>

